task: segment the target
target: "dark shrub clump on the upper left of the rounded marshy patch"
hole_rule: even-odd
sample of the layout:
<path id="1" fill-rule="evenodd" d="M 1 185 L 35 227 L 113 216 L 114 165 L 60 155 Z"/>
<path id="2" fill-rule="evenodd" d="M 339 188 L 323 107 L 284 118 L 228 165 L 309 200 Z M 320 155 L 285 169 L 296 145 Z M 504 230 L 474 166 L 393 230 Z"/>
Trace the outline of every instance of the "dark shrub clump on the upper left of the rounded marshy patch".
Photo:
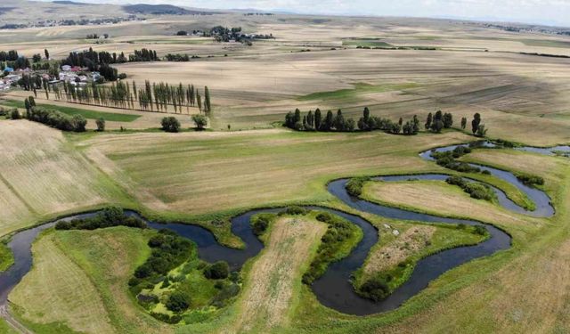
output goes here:
<path id="1" fill-rule="evenodd" d="M 166 275 L 175 267 L 182 265 L 191 257 L 191 240 L 180 237 L 168 230 L 160 230 L 148 243 L 152 249 L 151 257 L 134 271 L 134 278 L 129 281 L 131 287 L 138 287 L 140 292 L 142 284 Z"/>

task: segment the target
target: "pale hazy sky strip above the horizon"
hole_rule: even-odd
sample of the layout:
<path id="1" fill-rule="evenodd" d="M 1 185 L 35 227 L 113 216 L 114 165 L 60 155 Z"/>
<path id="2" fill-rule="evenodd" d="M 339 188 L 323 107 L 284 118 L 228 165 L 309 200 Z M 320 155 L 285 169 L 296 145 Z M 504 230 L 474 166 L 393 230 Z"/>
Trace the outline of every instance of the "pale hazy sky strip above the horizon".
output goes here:
<path id="1" fill-rule="evenodd" d="M 570 0 L 77 0 L 114 4 L 179 4 L 191 7 L 256 8 L 299 13 L 452 17 L 509 20 L 570 27 Z"/>

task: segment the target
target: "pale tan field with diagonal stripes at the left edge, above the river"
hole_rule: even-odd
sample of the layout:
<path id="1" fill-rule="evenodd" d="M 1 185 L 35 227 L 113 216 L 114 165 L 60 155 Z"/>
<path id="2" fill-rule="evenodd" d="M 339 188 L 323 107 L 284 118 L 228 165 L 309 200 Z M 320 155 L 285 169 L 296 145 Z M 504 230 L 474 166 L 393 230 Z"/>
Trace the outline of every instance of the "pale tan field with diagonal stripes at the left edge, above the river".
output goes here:
<path id="1" fill-rule="evenodd" d="M 60 131 L 27 120 L 4 121 L 0 146 L 0 202 L 7 204 L 0 214 L 0 235 L 119 194 Z"/>

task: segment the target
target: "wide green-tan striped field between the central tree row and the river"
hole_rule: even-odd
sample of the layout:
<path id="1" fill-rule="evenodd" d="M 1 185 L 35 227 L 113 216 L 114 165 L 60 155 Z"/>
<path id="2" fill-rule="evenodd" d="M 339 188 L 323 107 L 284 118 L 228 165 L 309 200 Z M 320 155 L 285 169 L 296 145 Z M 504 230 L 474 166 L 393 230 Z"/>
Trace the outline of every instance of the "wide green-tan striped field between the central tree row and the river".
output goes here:
<path id="1" fill-rule="evenodd" d="M 202 214 L 252 203 L 329 200 L 323 184 L 334 177 L 433 169 L 418 151 L 467 140 L 455 132 L 404 137 L 267 130 L 105 134 L 78 144 L 89 146 L 87 155 L 97 164 L 113 161 L 134 191 L 150 193 L 170 210 Z"/>

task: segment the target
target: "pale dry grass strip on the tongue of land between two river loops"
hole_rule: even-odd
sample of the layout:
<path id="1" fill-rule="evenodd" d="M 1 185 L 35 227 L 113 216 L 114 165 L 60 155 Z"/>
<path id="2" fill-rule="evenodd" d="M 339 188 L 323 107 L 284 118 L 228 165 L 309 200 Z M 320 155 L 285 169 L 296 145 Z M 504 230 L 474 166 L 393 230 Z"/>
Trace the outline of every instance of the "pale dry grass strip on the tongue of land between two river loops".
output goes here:
<path id="1" fill-rule="evenodd" d="M 237 322 L 225 332 L 268 332 L 287 328 L 304 268 L 326 224 L 305 217 L 280 218 L 261 256 L 252 265 L 240 297 Z"/>

